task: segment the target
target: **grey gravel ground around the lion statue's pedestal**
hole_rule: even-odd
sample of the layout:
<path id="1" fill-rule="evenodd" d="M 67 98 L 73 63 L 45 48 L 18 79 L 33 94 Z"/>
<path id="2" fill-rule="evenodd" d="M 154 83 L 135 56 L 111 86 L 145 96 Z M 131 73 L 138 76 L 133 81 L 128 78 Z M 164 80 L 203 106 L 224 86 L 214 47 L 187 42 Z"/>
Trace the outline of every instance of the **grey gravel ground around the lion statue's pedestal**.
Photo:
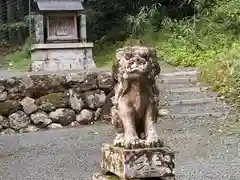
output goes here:
<path id="1" fill-rule="evenodd" d="M 240 179 L 240 138 L 218 133 L 221 121 L 163 118 L 156 124 L 176 151 L 176 179 Z M 0 180 L 90 180 L 100 168 L 101 144 L 113 137 L 104 123 L 0 136 Z"/>

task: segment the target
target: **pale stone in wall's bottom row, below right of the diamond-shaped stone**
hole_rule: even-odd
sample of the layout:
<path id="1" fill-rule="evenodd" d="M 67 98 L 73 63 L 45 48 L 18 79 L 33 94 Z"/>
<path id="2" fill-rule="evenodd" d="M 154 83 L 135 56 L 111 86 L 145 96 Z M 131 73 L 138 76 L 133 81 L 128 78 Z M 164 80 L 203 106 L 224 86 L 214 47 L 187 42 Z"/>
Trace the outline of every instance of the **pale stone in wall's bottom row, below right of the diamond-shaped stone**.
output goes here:
<path id="1" fill-rule="evenodd" d="M 47 113 L 39 111 L 31 114 L 32 122 L 40 128 L 44 128 L 52 123 L 52 120 L 48 117 Z"/>

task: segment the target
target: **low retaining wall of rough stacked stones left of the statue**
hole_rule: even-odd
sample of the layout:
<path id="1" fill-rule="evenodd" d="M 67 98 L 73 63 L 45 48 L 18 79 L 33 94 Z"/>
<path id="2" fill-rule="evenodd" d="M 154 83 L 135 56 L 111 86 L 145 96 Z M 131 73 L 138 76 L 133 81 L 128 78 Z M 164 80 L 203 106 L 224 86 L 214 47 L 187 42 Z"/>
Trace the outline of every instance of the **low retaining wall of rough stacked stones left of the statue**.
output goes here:
<path id="1" fill-rule="evenodd" d="M 112 74 L 103 71 L 1 78 L 0 133 L 93 123 L 114 85 Z"/>

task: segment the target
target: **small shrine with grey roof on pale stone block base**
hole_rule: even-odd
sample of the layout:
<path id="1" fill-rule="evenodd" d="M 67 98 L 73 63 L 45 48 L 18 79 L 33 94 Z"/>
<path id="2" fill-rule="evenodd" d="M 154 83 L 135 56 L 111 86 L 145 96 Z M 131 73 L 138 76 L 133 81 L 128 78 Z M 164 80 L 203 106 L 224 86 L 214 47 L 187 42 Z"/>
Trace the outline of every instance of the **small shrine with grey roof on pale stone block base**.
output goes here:
<path id="1" fill-rule="evenodd" d="M 87 42 L 81 0 L 35 0 L 36 42 L 32 71 L 84 70 L 95 67 L 93 43 Z"/>

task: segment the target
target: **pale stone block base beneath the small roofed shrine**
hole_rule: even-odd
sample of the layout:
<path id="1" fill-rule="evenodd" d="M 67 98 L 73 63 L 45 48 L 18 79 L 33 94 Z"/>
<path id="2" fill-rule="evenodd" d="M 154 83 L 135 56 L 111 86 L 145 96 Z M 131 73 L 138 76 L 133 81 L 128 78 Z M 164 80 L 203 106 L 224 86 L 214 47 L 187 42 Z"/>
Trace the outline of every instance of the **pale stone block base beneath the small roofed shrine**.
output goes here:
<path id="1" fill-rule="evenodd" d="M 68 71 L 95 68 L 93 43 L 35 44 L 31 50 L 32 71 Z"/>

